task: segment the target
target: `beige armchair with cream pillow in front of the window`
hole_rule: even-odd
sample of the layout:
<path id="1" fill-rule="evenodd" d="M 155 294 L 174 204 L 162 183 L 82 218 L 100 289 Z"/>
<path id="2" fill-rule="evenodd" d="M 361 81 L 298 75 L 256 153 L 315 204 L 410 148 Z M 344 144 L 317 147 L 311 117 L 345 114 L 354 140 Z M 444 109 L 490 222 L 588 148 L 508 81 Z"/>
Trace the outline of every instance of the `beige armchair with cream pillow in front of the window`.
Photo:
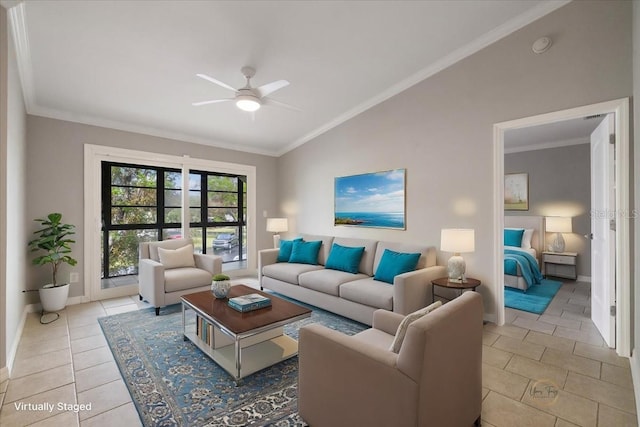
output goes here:
<path id="1" fill-rule="evenodd" d="M 193 253 L 190 239 L 140 243 L 140 300 L 156 308 L 180 302 L 182 295 L 211 289 L 211 278 L 222 272 L 222 258 Z"/>

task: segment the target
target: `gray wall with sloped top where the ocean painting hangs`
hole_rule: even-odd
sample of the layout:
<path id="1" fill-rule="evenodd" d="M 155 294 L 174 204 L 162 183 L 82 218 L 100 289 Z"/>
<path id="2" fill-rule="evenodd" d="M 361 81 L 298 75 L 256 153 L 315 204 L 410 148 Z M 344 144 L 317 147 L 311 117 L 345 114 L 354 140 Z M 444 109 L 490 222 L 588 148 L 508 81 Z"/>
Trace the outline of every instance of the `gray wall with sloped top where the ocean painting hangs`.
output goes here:
<path id="1" fill-rule="evenodd" d="M 631 96 L 631 70 L 631 3 L 571 2 L 282 156 L 280 208 L 294 232 L 436 247 L 442 228 L 474 228 L 467 271 L 493 315 L 494 123 Z M 334 177 L 391 168 L 407 169 L 407 230 L 334 227 Z"/>

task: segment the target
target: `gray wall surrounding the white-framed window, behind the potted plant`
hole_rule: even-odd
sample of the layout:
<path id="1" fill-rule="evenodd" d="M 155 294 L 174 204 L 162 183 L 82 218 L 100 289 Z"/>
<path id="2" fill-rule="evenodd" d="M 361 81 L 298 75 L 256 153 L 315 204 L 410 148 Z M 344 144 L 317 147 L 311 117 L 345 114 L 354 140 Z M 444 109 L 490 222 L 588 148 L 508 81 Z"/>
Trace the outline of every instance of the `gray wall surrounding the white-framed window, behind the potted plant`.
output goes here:
<path id="1" fill-rule="evenodd" d="M 61 212 L 65 221 L 76 225 L 74 257 L 82 277 L 84 265 L 84 144 L 130 148 L 154 153 L 183 155 L 223 162 L 256 166 L 257 248 L 273 245 L 266 232 L 266 220 L 262 212 L 276 211 L 276 158 L 191 144 L 131 132 L 88 126 L 78 123 L 28 116 L 28 170 L 27 218 L 39 218 L 49 212 Z M 37 224 L 29 224 L 34 230 Z M 67 266 L 65 266 L 67 268 Z M 68 272 L 68 270 L 65 270 Z M 27 287 L 37 289 L 48 272 L 42 268 L 30 268 Z M 83 295 L 83 284 L 72 284 L 70 296 Z M 37 297 L 31 300 L 37 302 Z"/>

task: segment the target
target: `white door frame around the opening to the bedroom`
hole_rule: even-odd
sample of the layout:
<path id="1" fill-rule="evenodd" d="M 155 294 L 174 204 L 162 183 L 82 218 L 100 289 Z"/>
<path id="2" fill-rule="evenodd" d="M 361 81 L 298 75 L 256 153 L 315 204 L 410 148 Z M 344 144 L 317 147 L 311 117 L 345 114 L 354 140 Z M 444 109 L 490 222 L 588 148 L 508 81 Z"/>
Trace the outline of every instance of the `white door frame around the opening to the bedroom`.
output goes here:
<path id="1" fill-rule="evenodd" d="M 620 356 L 631 355 L 631 251 L 629 189 L 631 177 L 629 162 L 629 98 L 621 98 L 567 110 L 555 111 L 531 117 L 525 117 L 493 125 L 493 170 L 494 170 L 494 248 L 496 263 L 496 323 L 503 325 L 504 315 L 504 267 L 498 261 L 503 257 L 504 228 L 504 134 L 509 129 L 520 129 L 542 124 L 560 122 L 597 114 L 615 114 L 616 133 L 616 352 Z"/>

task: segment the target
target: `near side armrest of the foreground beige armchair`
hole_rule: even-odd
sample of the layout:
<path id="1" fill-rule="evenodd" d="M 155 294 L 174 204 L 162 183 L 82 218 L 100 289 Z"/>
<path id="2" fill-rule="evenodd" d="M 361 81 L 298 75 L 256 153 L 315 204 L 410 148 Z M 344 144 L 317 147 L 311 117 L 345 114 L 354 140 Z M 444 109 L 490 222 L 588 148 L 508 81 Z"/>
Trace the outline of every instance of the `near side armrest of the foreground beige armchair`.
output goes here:
<path id="1" fill-rule="evenodd" d="M 418 384 L 395 353 L 319 324 L 299 340 L 298 410 L 309 425 L 417 425 Z"/>

